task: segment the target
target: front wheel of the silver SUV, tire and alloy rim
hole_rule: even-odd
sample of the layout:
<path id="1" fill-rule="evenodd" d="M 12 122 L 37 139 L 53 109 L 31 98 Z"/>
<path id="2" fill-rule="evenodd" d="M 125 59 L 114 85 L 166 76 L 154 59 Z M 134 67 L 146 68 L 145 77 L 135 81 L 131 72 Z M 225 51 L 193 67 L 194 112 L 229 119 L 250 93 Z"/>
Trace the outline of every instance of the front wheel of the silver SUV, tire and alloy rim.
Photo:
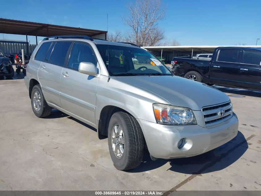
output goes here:
<path id="1" fill-rule="evenodd" d="M 109 151 L 119 170 L 137 168 L 143 159 L 144 136 L 137 120 L 125 113 L 112 115 L 108 127 Z"/>

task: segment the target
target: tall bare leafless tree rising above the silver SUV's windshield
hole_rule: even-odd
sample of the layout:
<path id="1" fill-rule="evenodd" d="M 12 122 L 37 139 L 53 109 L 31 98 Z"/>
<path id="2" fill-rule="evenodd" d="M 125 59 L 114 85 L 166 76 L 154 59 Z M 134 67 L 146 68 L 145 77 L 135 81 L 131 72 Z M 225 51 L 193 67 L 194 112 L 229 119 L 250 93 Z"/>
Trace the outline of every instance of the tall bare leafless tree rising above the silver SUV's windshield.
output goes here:
<path id="1" fill-rule="evenodd" d="M 164 20 L 165 16 L 161 0 L 136 0 L 127 3 L 126 7 L 129 13 L 122 20 L 130 29 L 125 40 L 139 46 L 154 46 L 165 38 L 164 31 L 158 28 L 158 21 Z"/>

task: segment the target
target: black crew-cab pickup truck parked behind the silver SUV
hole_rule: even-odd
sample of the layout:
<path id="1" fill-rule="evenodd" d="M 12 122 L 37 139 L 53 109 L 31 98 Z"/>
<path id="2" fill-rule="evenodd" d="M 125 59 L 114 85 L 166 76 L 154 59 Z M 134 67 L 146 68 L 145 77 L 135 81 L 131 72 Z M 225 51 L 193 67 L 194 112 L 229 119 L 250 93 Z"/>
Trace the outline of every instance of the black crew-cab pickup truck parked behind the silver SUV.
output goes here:
<path id="1" fill-rule="evenodd" d="M 221 85 L 261 91 L 261 49 L 218 47 L 212 59 L 174 57 L 171 71 L 176 76 Z"/>

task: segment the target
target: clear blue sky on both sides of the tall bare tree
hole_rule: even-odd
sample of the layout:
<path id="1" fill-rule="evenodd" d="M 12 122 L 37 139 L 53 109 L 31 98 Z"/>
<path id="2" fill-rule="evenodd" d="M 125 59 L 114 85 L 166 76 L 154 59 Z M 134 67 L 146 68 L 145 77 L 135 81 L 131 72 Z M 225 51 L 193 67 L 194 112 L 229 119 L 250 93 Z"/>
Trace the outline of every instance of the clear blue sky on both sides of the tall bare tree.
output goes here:
<path id="1" fill-rule="evenodd" d="M 11 1 L 3 0 L 0 17 L 72 27 L 126 31 L 121 16 L 126 0 L 98 1 Z M 162 0 L 165 20 L 159 22 L 167 39 L 183 46 L 255 45 L 261 38 L 261 0 Z M 15 12 L 15 7 L 17 9 Z M 21 11 L 19 14 L 19 10 Z M 0 39 L 3 38 L 2 33 Z M 25 40 L 25 36 L 4 34 L 5 39 Z M 28 37 L 35 43 L 35 37 Z M 38 38 L 40 40 L 40 38 Z M 261 45 L 261 39 L 258 42 Z"/>

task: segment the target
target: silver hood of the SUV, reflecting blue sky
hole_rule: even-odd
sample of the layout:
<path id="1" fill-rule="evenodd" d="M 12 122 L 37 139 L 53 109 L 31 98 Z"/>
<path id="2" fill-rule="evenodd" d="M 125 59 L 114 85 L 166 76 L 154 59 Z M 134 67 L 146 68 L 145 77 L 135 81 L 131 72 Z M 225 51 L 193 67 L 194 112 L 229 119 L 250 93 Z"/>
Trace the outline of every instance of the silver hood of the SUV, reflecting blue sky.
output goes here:
<path id="1" fill-rule="evenodd" d="M 201 110 L 204 106 L 229 101 L 220 90 L 179 76 L 117 76 L 166 99 L 172 106 Z"/>

